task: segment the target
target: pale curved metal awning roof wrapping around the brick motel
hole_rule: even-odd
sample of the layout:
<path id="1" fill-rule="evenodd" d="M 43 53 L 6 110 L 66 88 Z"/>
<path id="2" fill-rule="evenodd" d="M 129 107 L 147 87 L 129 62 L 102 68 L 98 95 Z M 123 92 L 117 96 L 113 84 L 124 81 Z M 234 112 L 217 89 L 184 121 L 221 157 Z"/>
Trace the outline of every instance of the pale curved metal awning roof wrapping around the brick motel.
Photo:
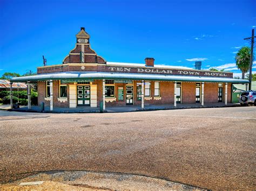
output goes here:
<path id="1" fill-rule="evenodd" d="M 104 72 L 62 72 L 39 74 L 35 76 L 13 77 L 11 82 L 46 81 L 64 79 L 125 79 L 125 80 L 151 80 L 151 81 L 180 81 L 180 82 L 228 82 L 249 83 L 248 80 L 233 79 L 228 77 L 202 77 L 202 76 L 178 76 L 163 74 L 131 74 L 131 73 L 104 73 Z"/>

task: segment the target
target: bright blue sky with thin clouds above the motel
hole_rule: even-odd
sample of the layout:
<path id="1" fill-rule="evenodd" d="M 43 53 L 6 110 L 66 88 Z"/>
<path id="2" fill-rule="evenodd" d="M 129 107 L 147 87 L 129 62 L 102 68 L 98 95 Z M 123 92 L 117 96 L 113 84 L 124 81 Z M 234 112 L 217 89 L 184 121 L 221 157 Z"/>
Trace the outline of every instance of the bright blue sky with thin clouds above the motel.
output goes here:
<path id="1" fill-rule="evenodd" d="M 62 63 L 80 27 L 106 61 L 144 63 L 153 57 L 157 64 L 194 67 L 203 60 L 203 69 L 240 73 L 234 55 L 250 46 L 243 39 L 256 29 L 255 7 L 255 0 L 1 0 L 0 75 L 36 72 L 42 55 L 48 65 Z"/>

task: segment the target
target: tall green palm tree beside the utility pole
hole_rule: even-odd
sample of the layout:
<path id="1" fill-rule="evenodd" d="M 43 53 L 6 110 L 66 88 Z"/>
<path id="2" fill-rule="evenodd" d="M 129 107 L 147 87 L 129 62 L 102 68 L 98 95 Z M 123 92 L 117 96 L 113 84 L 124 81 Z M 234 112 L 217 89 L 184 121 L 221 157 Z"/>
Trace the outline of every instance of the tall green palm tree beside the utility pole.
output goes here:
<path id="1" fill-rule="evenodd" d="M 248 46 L 241 47 L 237 55 L 235 55 L 235 62 L 237 64 L 237 68 L 242 72 L 242 79 L 245 79 L 245 73 L 250 69 L 250 55 L 251 48 Z"/>

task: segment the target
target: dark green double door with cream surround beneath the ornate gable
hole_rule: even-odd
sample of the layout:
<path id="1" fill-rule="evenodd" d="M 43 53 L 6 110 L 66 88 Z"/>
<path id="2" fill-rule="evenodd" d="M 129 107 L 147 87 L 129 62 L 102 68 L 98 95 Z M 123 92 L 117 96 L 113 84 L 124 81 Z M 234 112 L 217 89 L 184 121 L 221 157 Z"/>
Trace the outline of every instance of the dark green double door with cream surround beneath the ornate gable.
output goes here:
<path id="1" fill-rule="evenodd" d="M 90 86 L 77 86 L 77 106 L 90 106 Z"/>

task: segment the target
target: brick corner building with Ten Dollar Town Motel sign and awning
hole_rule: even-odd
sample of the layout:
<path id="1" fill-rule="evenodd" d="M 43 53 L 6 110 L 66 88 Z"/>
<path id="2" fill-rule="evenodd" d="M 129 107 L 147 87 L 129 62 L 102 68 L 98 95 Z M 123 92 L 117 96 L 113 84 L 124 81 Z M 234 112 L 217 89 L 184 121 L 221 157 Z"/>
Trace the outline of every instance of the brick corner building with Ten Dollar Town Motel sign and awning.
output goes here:
<path id="1" fill-rule="evenodd" d="M 231 102 L 232 84 L 248 83 L 233 79 L 230 72 L 154 65 L 153 58 L 145 64 L 106 62 L 90 46 L 90 36 L 82 27 L 76 45 L 59 65 L 37 68 L 37 75 L 14 77 L 11 82 L 38 84 L 38 104 L 54 107 L 219 103 Z"/>

